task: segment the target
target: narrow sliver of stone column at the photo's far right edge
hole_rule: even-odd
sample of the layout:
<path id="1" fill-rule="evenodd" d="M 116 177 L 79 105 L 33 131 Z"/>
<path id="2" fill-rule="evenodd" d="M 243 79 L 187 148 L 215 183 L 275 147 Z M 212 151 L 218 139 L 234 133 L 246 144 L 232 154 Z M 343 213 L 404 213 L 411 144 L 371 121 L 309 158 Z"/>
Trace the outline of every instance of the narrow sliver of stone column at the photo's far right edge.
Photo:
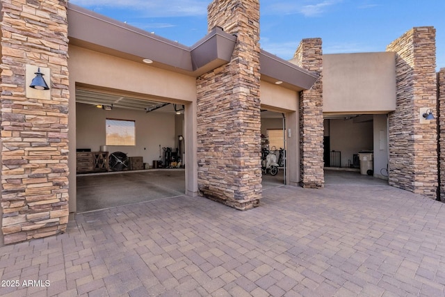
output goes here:
<path id="1" fill-rule="evenodd" d="M 437 105 L 439 106 L 439 169 L 440 195 L 439 200 L 445 200 L 445 68 L 437 73 Z"/>

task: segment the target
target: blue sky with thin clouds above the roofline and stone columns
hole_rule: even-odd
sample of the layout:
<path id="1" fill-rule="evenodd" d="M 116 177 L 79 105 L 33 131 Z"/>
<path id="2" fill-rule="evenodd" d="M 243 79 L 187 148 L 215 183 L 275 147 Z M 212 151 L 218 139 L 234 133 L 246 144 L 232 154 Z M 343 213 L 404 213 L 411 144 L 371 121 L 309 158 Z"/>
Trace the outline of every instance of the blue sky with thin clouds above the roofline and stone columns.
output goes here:
<path id="1" fill-rule="evenodd" d="M 211 0 L 70 0 L 184 45 L 207 34 Z M 261 48 L 284 59 L 302 38 L 323 39 L 323 54 L 385 51 L 414 26 L 436 29 L 437 67 L 445 67 L 443 0 L 261 0 Z"/>

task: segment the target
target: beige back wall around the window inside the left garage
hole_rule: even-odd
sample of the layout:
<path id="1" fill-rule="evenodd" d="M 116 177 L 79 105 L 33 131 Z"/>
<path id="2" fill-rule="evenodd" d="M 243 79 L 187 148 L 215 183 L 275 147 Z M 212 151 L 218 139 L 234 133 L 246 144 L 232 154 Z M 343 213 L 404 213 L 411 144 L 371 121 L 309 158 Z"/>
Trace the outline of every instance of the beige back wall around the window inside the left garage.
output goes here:
<path id="1" fill-rule="evenodd" d="M 175 113 L 132 111 L 113 109 L 104 111 L 88 104 L 76 104 L 76 148 L 98 151 L 105 145 L 106 118 L 135 120 L 135 146 L 108 146 L 108 152 L 124 152 L 128 156 L 143 156 L 144 162 L 152 165 L 159 159 L 159 145 L 176 150 Z M 163 156 L 163 151 L 161 151 Z"/>

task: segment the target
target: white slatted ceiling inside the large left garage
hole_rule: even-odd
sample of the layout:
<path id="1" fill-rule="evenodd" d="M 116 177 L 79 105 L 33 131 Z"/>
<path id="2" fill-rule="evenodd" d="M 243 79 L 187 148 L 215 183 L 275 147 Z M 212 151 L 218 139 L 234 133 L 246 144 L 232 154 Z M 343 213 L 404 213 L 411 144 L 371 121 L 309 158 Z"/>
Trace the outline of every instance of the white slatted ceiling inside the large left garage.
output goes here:
<path id="1" fill-rule="evenodd" d="M 120 109 L 134 109 L 138 111 L 155 111 L 170 103 L 154 101 L 152 99 L 108 93 L 102 90 L 76 88 L 76 103 L 117 107 Z"/>

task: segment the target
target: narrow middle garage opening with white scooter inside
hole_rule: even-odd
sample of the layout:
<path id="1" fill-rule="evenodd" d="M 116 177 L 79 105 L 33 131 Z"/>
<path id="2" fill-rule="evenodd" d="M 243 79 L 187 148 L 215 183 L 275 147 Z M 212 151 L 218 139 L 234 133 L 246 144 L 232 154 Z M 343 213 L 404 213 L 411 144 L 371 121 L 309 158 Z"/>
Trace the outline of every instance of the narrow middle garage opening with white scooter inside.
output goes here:
<path id="1" fill-rule="evenodd" d="M 263 188 L 286 184 L 286 138 L 283 113 L 261 110 Z"/>

